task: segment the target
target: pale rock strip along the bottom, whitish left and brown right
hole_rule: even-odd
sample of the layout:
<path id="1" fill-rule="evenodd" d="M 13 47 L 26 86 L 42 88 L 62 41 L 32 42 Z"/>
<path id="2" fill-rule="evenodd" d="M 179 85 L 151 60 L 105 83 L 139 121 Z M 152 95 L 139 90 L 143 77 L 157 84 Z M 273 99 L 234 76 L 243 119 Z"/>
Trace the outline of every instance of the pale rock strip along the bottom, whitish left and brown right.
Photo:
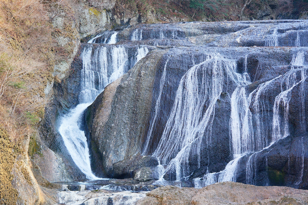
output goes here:
<path id="1" fill-rule="evenodd" d="M 55 191 L 54 203 L 67 205 L 302 205 L 308 203 L 308 191 L 283 186 L 253 186 L 237 182 L 219 182 L 202 189 L 163 186 L 152 191 L 116 191 L 104 189 Z"/>

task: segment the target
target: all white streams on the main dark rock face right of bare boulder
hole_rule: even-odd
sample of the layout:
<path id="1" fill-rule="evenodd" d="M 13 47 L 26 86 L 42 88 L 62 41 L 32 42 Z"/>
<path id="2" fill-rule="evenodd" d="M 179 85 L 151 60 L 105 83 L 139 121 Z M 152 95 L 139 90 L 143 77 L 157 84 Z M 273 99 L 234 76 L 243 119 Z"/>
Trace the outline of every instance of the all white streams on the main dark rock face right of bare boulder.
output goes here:
<path id="1" fill-rule="evenodd" d="M 195 178 L 193 182 L 195 187 L 202 187 L 215 182 L 236 181 L 239 161 L 246 154 L 253 152 L 246 165 L 246 181 L 253 183 L 256 175 L 254 167 L 256 155 L 289 134 L 288 103 L 291 91 L 307 78 L 306 68 L 302 67 L 304 57 L 302 52 L 298 52 L 293 57 L 289 72 L 260 84 L 249 95 L 246 92 L 246 87 L 251 83 L 247 73 L 247 56 L 245 57 L 243 74 L 236 73 L 235 61 L 224 59 L 221 56 L 208 57 L 206 61 L 189 69 L 180 81 L 170 117 L 158 147 L 153 153 L 153 156 L 157 157 L 165 167 L 162 176 L 173 170 L 176 173 L 176 180 L 181 180 L 188 177 L 194 169 L 200 167 L 200 146 L 205 138 L 207 144 L 211 142 L 211 123 L 213 123 L 215 115 L 215 102 L 221 92 L 225 90 L 220 82 L 224 82 L 224 79 L 227 78 L 228 82 L 233 82 L 237 86 L 231 96 L 229 125 L 233 160 L 221 172 L 208 173 L 203 178 Z M 153 134 L 156 117 L 160 112 L 160 98 L 167 64 L 168 61 L 165 63 L 160 79 L 154 118 L 151 119 L 143 154 L 147 153 L 149 139 Z M 207 76 L 205 73 L 207 69 L 210 70 L 210 73 L 216 73 L 217 76 L 212 73 Z M 201 83 L 198 85 L 199 81 Z M 282 82 L 281 91 L 275 98 L 273 113 L 270 114 L 269 110 L 271 109 L 267 103 L 269 98 L 266 93 L 277 82 Z M 300 100 L 304 105 L 304 98 Z M 204 112 L 202 112 L 203 106 L 207 108 Z M 304 117 L 304 109 L 301 110 Z M 267 118 L 272 119 L 271 124 L 264 124 L 263 119 Z M 271 137 L 267 138 L 267 136 Z M 198 164 L 194 165 L 190 161 L 191 156 L 197 156 L 195 161 Z M 161 177 L 160 182 L 162 179 Z"/>

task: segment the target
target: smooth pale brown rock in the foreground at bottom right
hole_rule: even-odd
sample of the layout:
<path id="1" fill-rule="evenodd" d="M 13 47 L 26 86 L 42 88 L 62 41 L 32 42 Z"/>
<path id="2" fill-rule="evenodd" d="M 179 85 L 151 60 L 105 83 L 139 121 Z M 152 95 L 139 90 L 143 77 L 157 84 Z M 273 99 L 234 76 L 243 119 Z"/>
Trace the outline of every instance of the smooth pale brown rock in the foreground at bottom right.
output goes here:
<path id="1" fill-rule="evenodd" d="M 165 186 L 149 192 L 147 197 L 140 199 L 137 204 L 308 204 L 308 190 L 236 182 L 219 182 L 200 190 Z"/>

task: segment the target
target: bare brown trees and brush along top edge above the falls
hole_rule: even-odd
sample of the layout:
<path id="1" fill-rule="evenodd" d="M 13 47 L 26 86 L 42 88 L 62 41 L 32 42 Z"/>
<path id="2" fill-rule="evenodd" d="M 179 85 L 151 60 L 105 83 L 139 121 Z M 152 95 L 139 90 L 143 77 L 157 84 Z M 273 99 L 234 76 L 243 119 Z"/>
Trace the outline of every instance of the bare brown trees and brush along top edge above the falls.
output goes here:
<path id="1" fill-rule="evenodd" d="M 141 15 L 155 10 L 161 16 L 188 16 L 197 21 L 241 20 L 243 16 L 252 20 L 265 6 L 276 10 L 279 18 L 296 17 L 307 11 L 308 0 L 119 0 L 115 12 L 129 13 L 136 8 Z"/>

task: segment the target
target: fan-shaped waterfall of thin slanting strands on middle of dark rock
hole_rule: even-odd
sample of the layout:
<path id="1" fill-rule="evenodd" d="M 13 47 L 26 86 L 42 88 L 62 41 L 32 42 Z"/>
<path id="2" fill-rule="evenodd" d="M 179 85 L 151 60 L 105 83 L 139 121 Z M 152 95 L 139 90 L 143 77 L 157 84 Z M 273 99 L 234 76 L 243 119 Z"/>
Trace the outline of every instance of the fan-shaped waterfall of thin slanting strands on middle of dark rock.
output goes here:
<path id="1" fill-rule="evenodd" d="M 234 60 L 217 54 L 194 65 L 182 77 L 170 117 L 153 153 L 162 165 L 167 165 L 165 173 L 176 171 L 176 180 L 200 167 L 202 141 L 211 143 L 217 99 L 228 89 L 224 82 L 236 85 L 243 81 L 243 76 L 235 70 Z M 197 156 L 193 167 L 189 156 Z"/>

